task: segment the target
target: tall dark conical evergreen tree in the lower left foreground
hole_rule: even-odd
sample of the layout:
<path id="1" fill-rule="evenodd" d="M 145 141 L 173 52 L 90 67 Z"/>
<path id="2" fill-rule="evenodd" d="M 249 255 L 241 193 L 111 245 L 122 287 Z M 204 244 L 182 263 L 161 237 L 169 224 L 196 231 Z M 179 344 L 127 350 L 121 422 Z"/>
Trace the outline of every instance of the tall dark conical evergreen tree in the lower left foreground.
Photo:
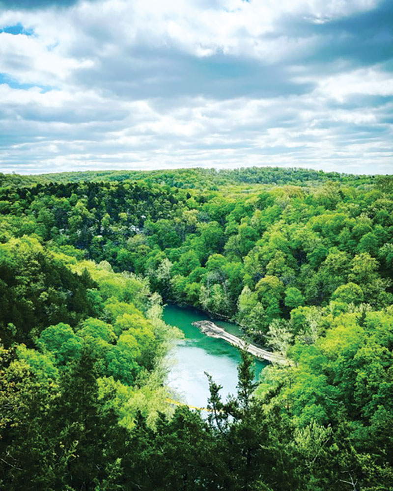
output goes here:
<path id="1" fill-rule="evenodd" d="M 96 360 L 89 345 L 60 383 L 60 397 L 50 412 L 51 434 L 57 436 L 54 488 L 87 490 L 110 479 L 113 463 L 125 452 L 125 430 L 105 401 L 98 400 Z M 111 442 L 108 445 L 108 442 Z M 55 467 L 56 469 L 56 467 Z"/>

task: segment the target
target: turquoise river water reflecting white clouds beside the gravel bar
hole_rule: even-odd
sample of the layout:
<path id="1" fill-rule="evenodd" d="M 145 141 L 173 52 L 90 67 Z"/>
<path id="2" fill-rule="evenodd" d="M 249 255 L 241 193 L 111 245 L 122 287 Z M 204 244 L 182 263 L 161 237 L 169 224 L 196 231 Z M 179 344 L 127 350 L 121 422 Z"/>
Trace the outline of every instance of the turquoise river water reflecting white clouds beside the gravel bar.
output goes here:
<path id="1" fill-rule="evenodd" d="M 240 361 L 239 350 L 223 339 L 202 334 L 192 322 L 209 319 L 205 312 L 192 308 L 167 305 L 164 320 L 171 326 L 177 326 L 184 333 L 184 339 L 177 342 L 170 354 L 173 365 L 168 375 L 168 386 L 174 391 L 174 397 L 197 408 L 205 408 L 209 397 L 209 384 L 204 372 L 209 373 L 215 382 L 223 386 L 221 395 L 225 399 L 228 393 L 236 393 L 237 365 Z M 236 336 L 242 332 L 236 324 L 214 320 L 214 323 Z M 255 360 L 255 377 L 258 378 L 266 362 Z"/>

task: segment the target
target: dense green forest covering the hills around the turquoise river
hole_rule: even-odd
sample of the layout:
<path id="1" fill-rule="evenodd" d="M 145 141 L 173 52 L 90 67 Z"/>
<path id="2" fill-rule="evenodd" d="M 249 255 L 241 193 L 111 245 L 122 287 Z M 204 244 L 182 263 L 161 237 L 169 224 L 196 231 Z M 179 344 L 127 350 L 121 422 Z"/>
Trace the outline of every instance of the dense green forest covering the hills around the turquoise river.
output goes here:
<path id="1" fill-rule="evenodd" d="M 0 174 L 0 486 L 393 489 L 393 176 Z M 288 360 L 174 409 L 166 303 Z"/>

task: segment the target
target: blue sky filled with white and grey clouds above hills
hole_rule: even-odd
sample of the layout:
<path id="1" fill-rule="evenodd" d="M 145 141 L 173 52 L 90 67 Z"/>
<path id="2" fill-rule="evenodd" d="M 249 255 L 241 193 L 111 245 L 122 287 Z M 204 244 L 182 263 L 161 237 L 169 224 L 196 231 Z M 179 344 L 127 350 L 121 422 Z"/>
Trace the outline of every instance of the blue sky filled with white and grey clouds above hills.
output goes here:
<path id="1" fill-rule="evenodd" d="M 0 171 L 393 173 L 393 0 L 0 0 Z"/>

